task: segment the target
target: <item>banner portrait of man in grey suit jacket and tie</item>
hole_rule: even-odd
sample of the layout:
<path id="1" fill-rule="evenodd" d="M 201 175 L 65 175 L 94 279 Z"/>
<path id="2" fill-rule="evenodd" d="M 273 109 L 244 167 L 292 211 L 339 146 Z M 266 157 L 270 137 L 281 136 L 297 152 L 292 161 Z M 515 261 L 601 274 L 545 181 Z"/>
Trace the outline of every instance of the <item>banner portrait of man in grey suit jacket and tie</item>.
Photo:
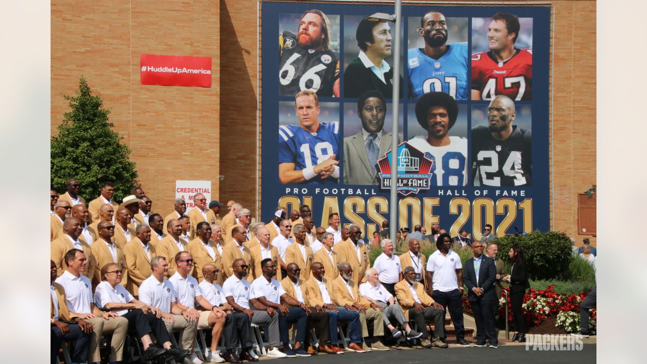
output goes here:
<path id="1" fill-rule="evenodd" d="M 378 185 L 377 161 L 391 150 L 392 104 L 380 91 L 362 93 L 357 102 L 344 104 L 344 184 Z M 404 107 L 400 104 L 398 130 L 403 129 Z M 398 134 L 398 144 L 402 133 Z"/>

